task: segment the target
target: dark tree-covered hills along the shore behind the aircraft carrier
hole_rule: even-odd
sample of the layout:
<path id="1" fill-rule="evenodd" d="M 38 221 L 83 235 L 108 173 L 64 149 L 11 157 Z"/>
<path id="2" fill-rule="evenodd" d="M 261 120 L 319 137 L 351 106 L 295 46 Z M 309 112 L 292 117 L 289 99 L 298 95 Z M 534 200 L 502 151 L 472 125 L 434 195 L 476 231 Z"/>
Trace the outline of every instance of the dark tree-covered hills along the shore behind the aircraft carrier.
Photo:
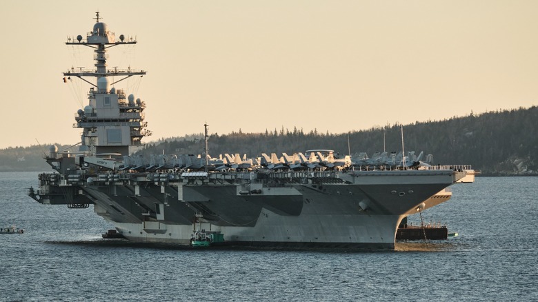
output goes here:
<path id="1" fill-rule="evenodd" d="M 212 130 L 212 129 L 210 129 Z M 383 139 L 384 137 L 384 139 Z M 401 125 L 386 125 L 341 134 L 304 132 L 301 128 L 268 129 L 263 133 L 232 132 L 210 134 L 209 154 L 239 153 L 258 157 L 262 152 L 277 154 L 332 149 L 340 154 L 401 151 Z M 435 163 L 472 165 L 483 174 L 538 174 L 538 108 L 520 108 L 444 121 L 421 121 L 403 125 L 404 148 L 417 154 L 433 154 Z M 349 145 L 348 145 L 349 142 Z M 59 146 L 63 150 L 67 146 Z M 138 154 L 201 154 L 203 134 L 161 139 L 146 144 Z M 47 147 L 0 150 L 0 171 L 50 170 L 43 161 Z"/>

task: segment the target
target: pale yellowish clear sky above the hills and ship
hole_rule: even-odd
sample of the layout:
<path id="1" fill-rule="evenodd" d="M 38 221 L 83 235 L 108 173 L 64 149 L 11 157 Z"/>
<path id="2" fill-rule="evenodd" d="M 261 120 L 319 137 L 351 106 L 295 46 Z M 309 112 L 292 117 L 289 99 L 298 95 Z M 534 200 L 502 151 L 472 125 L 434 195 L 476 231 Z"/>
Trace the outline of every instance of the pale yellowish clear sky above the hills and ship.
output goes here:
<path id="1" fill-rule="evenodd" d="M 288 128 L 343 133 L 538 105 L 538 1 L 14 1 L 2 3 L 0 148 L 74 144 L 109 30 L 117 89 L 146 102 L 152 137 Z"/>

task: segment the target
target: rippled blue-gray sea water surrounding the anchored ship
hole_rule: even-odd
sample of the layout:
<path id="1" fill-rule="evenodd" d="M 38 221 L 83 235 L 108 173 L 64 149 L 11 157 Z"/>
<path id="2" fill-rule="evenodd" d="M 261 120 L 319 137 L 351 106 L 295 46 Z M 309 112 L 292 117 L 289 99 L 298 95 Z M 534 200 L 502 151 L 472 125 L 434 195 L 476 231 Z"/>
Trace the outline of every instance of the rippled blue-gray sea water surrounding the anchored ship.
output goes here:
<path id="1" fill-rule="evenodd" d="M 92 208 L 26 196 L 0 173 L 1 301 L 538 301 L 538 177 L 481 177 L 426 210 L 459 236 L 395 251 L 190 250 L 106 241 Z M 417 215 L 410 217 L 420 223 Z"/>

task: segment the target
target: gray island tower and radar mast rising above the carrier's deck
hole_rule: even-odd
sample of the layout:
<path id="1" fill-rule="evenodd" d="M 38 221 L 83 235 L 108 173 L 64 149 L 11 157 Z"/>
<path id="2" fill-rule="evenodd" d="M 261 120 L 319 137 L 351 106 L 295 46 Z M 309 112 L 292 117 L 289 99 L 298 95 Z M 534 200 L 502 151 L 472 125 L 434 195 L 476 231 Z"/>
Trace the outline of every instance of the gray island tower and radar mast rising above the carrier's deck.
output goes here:
<path id="1" fill-rule="evenodd" d="M 79 34 L 76 40 L 68 38 L 66 42 L 66 45 L 93 48 L 95 60 L 94 70 L 71 68 L 63 72 L 64 82 L 66 77 L 77 77 L 92 86 L 88 92 L 88 105 L 77 112 L 77 123 L 74 123 L 73 127 L 83 129 L 81 151 L 89 151 L 93 156 L 103 153 L 129 155 L 130 146 L 141 145 L 141 139 L 151 135 L 151 132 L 145 129 L 147 123 L 143 121 L 146 103 L 135 99 L 133 94 L 126 97 L 124 90 L 110 86 L 136 75 L 143 77 L 146 71 L 107 68 L 108 48 L 136 44 L 137 41 L 132 37 L 126 39 L 123 34 L 116 39 L 114 32 L 108 30 L 107 24 L 101 22 L 99 12 L 95 14 L 93 19 L 96 23 L 92 31 L 86 34 L 86 39 Z M 117 81 L 110 80 L 117 78 Z"/>

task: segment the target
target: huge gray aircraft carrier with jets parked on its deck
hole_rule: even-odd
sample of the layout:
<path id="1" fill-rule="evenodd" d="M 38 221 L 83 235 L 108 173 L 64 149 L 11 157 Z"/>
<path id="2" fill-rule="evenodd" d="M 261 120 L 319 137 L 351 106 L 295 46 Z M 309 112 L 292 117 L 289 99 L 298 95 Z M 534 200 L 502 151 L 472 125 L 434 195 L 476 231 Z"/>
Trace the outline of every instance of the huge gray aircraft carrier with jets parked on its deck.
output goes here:
<path id="1" fill-rule="evenodd" d="M 453 183 L 474 180 L 469 167 L 428 165 L 403 150 L 375 159 L 330 150 L 212 159 L 207 125 L 199 156 L 133 156 L 150 134 L 146 103 L 116 86 L 146 72 L 107 68 L 108 48 L 137 41 L 116 39 L 99 13 L 95 19 L 86 37 L 66 42 L 94 49 L 95 70 L 63 72 L 66 82 L 90 84 L 73 125 L 82 130 L 79 151 L 50 147 L 52 172 L 28 192 L 39 203 L 93 205 L 132 241 L 189 245 L 204 232 L 219 235 L 215 244 L 390 249 L 404 217 L 450 199 Z"/>

